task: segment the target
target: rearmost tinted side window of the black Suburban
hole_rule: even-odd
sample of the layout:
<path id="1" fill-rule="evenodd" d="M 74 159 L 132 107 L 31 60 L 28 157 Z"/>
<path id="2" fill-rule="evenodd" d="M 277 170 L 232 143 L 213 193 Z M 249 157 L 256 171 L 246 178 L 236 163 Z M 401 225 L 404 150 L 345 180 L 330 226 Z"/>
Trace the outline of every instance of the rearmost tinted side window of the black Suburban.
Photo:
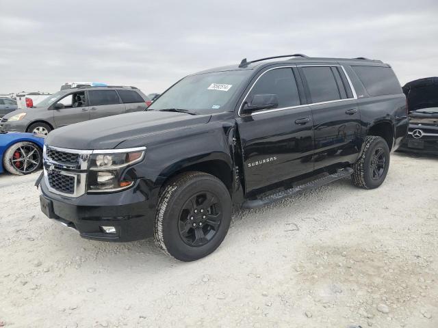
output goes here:
<path id="1" fill-rule="evenodd" d="M 389 67 L 352 66 L 370 96 L 400 94 L 402 88 Z"/>

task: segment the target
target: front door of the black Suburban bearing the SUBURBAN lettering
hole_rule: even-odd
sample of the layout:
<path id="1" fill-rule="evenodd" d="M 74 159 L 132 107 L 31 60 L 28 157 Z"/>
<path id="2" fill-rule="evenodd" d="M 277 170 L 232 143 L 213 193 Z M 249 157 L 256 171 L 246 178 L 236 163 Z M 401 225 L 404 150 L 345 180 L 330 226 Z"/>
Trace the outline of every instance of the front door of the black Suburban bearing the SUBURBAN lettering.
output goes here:
<path id="1" fill-rule="evenodd" d="M 313 117 L 300 102 L 292 68 L 263 72 L 244 102 L 274 94 L 279 105 L 237 118 L 246 192 L 313 171 Z"/>

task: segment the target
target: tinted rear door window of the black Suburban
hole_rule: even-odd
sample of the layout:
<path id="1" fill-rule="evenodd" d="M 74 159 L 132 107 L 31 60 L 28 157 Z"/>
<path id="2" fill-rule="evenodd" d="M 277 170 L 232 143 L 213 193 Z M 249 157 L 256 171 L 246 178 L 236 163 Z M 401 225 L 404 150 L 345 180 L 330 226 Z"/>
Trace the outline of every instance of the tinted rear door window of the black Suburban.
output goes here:
<path id="1" fill-rule="evenodd" d="M 339 89 L 330 67 L 303 67 L 311 102 L 339 100 Z"/>

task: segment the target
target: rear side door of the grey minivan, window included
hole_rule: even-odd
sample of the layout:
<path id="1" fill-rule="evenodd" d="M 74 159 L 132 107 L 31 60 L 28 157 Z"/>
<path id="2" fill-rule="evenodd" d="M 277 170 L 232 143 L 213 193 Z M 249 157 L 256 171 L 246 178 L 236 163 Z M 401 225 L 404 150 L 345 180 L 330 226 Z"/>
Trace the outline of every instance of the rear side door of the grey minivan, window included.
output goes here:
<path id="1" fill-rule="evenodd" d="M 116 90 L 87 90 L 90 102 L 90 120 L 125 113 Z"/>

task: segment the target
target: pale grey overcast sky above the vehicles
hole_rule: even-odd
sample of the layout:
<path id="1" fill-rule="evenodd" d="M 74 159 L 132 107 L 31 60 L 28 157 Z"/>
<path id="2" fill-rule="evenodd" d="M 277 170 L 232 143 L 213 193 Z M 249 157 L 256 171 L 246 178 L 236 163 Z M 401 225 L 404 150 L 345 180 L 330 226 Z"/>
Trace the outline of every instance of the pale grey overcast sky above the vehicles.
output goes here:
<path id="1" fill-rule="evenodd" d="M 381 59 L 402 84 L 438 76 L 438 1 L 0 0 L 0 94 L 67 81 L 148 94 L 289 53 Z"/>

